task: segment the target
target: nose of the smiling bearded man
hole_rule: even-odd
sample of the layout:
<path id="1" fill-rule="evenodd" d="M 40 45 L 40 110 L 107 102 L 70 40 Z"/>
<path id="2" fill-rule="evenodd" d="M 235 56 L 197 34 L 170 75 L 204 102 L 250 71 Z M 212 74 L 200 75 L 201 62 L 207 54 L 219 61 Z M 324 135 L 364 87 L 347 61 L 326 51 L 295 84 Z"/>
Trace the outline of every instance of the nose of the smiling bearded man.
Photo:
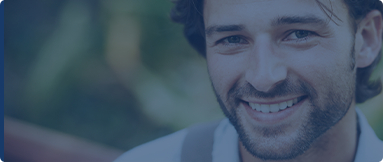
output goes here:
<path id="1" fill-rule="evenodd" d="M 268 92 L 287 77 L 287 67 L 271 43 L 259 42 L 247 60 L 245 79 L 255 89 Z"/>

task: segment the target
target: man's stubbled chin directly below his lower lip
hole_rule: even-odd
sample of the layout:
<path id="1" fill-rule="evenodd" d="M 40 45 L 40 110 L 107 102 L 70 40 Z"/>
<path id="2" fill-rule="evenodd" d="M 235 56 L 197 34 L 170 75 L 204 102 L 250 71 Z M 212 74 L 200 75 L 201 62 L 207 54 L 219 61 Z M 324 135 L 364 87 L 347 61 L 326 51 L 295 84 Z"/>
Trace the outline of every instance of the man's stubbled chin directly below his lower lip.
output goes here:
<path id="1" fill-rule="evenodd" d="M 254 157 L 262 160 L 294 159 L 308 150 L 314 141 L 313 138 L 302 139 L 303 126 L 289 133 L 283 129 L 286 128 L 285 125 L 272 128 L 253 127 L 250 130 L 243 127 L 246 126 L 236 126 L 242 145 Z"/>

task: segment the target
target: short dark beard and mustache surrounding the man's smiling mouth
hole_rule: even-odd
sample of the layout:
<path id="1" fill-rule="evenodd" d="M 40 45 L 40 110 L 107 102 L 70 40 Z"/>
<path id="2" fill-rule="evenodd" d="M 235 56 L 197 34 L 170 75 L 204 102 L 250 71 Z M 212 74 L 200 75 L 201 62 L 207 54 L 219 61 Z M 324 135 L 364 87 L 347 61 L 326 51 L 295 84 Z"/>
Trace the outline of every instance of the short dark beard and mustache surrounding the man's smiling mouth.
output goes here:
<path id="1" fill-rule="evenodd" d="M 341 70 L 342 71 L 342 70 Z M 345 72 L 347 74 L 344 74 Z M 353 75 L 350 75 L 353 74 Z M 354 99 L 355 73 L 344 70 L 338 79 L 331 78 L 327 88 L 315 90 L 302 80 L 286 79 L 266 92 L 256 90 L 249 83 L 235 83 L 227 97 L 214 91 L 224 114 L 233 124 L 243 146 L 253 156 L 262 160 L 289 160 L 302 155 L 327 130 L 337 124 L 348 112 Z M 345 81 L 339 83 L 341 81 Z M 257 126 L 246 122 L 239 106 L 243 97 L 272 99 L 286 95 L 304 94 L 308 106 L 298 124 L 284 123 Z M 302 104 L 303 106 L 303 104 Z M 294 125 L 294 126 L 293 126 Z M 294 127 L 293 131 L 288 128 Z M 321 139 L 324 140 L 324 139 Z"/>

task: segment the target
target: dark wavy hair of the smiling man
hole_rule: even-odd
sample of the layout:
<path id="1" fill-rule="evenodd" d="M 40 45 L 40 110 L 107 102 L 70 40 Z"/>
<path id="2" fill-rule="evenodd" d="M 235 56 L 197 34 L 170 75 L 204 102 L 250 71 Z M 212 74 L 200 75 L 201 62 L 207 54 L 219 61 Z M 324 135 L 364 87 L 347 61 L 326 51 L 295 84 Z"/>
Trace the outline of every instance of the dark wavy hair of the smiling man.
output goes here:
<path id="1" fill-rule="evenodd" d="M 324 6 L 319 0 L 315 0 L 321 9 L 331 20 L 332 10 Z M 363 19 L 372 10 L 379 10 L 383 15 L 383 4 L 380 0 L 343 0 L 348 7 L 351 25 L 356 32 L 357 22 Z M 206 57 L 205 25 L 203 22 L 203 0 L 176 0 L 175 6 L 170 12 L 171 19 L 184 25 L 183 33 L 192 45 L 203 57 Z M 330 12 L 329 15 L 327 12 Z M 334 15 L 335 18 L 336 15 Z M 338 18 L 337 18 L 338 19 Z M 355 100 L 363 103 L 375 97 L 382 91 L 382 82 L 379 79 L 370 80 L 371 74 L 382 57 L 381 51 L 374 62 L 365 67 L 357 69 Z"/>

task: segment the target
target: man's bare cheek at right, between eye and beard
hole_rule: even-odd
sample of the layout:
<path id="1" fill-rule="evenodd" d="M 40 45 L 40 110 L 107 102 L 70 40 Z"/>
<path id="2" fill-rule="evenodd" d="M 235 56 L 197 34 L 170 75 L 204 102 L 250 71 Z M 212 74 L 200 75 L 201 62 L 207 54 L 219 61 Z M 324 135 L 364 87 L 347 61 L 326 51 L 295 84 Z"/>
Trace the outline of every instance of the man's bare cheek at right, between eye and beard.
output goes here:
<path id="1" fill-rule="evenodd" d="M 317 48 L 290 60 L 292 74 L 312 86 L 321 101 L 328 100 L 328 95 L 352 91 L 355 85 L 355 72 L 351 70 L 351 48 L 329 50 Z M 298 60 L 298 61 L 297 61 Z"/>

